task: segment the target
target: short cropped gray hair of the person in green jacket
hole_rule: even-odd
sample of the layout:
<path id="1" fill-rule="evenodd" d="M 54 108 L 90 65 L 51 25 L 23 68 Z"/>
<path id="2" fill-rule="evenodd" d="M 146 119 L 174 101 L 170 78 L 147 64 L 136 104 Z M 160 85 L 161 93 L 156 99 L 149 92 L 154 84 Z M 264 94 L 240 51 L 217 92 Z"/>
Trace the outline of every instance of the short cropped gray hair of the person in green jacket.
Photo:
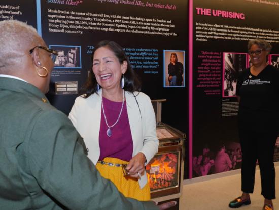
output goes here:
<path id="1" fill-rule="evenodd" d="M 18 20 L 0 21 L 0 73 L 18 65 L 28 49 L 42 43 L 36 29 Z"/>

